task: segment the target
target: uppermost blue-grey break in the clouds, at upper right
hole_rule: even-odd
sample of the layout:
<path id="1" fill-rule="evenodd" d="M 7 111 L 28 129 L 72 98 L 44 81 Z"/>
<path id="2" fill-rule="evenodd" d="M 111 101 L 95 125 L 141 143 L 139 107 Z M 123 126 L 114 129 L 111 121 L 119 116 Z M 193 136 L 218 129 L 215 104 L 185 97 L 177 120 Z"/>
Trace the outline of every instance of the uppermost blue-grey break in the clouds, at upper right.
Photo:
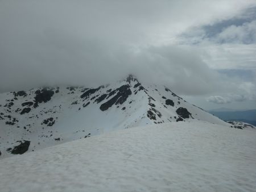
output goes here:
<path id="1" fill-rule="evenodd" d="M 181 44 L 200 44 L 202 41 L 213 41 L 215 43 L 237 43 L 237 40 L 241 40 L 243 44 L 256 43 L 256 6 L 249 7 L 242 12 L 241 15 L 236 15 L 233 18 L 226 20 L 220 20 L 211 24 L 205 24 L 203 26 L 192 26 L 189 30 L 180 34 Z M 238 31 L 240 30 L 240 31 Z M 221 38 L 221 34 L 226 34 L 226 38 Z M 238 31 L 239 33 L 234 35 L 232 32 Z M 243 32 L 244 34 L 241 34 Z M 239 36 L 243 36 L 239 38 Z M 238 38 L 237 38 L 238 37 Z"/>

